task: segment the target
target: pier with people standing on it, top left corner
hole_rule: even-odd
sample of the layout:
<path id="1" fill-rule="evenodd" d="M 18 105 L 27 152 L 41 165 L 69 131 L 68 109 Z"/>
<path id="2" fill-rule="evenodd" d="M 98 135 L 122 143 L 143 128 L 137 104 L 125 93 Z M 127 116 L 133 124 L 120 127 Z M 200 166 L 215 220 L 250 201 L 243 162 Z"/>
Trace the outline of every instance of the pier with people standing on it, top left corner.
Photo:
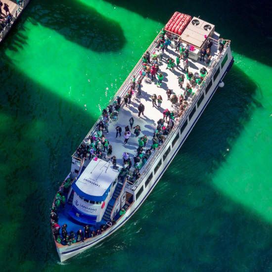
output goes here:
<path id="1" fill-rule="evenodd" d="M 2 13 L 0 14 L 0 43 L 10 31 L 17 18 L 22 14 L 29 1 L 30 0 L 1 0 L 3 5 L 1 6 Z M 5 12 L 4 4 L 8 5 L 9 13 Z M 11 18 L 8 17 L 9 14 Z"/>

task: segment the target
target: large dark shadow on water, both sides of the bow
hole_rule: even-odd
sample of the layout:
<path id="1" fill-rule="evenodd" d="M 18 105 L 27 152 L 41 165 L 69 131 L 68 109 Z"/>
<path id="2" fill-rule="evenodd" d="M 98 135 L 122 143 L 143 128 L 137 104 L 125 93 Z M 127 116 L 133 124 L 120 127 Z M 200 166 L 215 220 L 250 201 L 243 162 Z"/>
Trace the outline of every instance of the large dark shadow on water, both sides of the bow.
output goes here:
<path id="1" fill-rule="evenodd" d="M 1 70 L 11 69 L 7 60 L 3 63 Z M 226 80 L 140 211 L 95 251 L 69 260 L 69 270 L 91 264 L 93 271 L 120 271 L 120 258 L 132 271 L 271 269 L 271 225 L 211 185 L 210 174 L 243 130 L 241 119 L 249 120 L 253 108 L 261 106 L 253 98 L 257 86 L 241 70 L 234 66 Z M 1 233 L 9 229 L 11 237 L 1 238 L 1 259 L 11 271 L 20 263 L 25 271 L 55 270 L 49 208 L 69 172 L 70 154 L 95 120 L 16 71 L 5 82 L 0 93 L 0 114 L 8 120 L 0 131 L 1 165 L 6 165 L 0 209 Z"/>

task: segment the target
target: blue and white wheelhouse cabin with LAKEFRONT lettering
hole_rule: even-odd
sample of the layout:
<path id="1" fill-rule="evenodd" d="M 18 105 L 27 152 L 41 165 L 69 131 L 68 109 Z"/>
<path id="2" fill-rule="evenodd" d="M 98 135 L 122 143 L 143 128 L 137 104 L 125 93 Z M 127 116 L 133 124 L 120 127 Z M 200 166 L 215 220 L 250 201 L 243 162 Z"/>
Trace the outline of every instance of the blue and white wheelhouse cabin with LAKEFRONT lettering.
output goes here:
<path id="1" fill-rule="evenodd" d="M 111 162 L 94 158 L 72 184 L 73 207 L 69 215 L 77 222 L 96 225 L 104 215 L 118 180 Z"/>

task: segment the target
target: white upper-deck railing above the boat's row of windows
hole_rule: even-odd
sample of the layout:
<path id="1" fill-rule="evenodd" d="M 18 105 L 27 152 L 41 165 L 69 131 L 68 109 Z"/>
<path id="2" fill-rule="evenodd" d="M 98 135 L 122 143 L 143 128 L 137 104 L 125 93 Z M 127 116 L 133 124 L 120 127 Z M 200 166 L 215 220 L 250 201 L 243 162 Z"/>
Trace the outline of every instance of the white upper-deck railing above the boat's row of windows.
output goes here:
<path id="1" fill-rule="evenodd" d="M 163 152 L 166 146 L 168 145 L 169 141 L 173 139 L 173 135 L 179 133 L 179 129 L 182 127 L 184 122 L 187 120 L 189 114 L 193 110 L 195 104 L 197 103 L 199 97 L 202 95 L 202 90 L 204 90 L 207 86 L 207 84 L 210 82 L 211 77 L 213 76 L 213 70 L 215 66 L 220 62 L 221 58 L 225 55 L 225 52 L 227 51 L 227 47 L 230 45 L 230 41 L 226 40 L 226 44 L 224 46 L 224 50 L 222 53 L 216 58 L 216 60 L 213 62 L 212 66 L 210 67 L 210 72 L 207 74 L 204 81 L 201 82 L 201 84 L 198 86 L 198 88 L 195 91 L 195 94 L 192 96 L 192 99 L 190 100 L 190 105 L 188 108 L 183 112 L 178 122 L 175 123 L 173 129 L 166 137 L 166 140 L 163 142 L 160 148 L 156 149 L 152 154 L 150 155 L 148 159 L 148 165 L 146 167 L 143 166 L 143 168 L 140 170 L 140 177 L 138 180 L 134 183 L 132 186 L 132 189 L 135 190 L 136 187 L 141 183 L 141 181 L 145 178 L 146 173 L 149 172 L 149 170 L 154 166 L 155 160 L 159 157 L 159 153 Z"/>

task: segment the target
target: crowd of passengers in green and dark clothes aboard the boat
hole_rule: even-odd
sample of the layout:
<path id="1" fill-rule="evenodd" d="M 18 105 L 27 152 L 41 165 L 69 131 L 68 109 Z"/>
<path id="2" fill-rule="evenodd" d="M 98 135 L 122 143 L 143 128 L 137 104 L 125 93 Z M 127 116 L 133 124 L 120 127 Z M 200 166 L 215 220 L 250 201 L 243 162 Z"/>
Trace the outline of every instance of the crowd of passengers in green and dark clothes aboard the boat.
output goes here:
<path id="1" fill-rule="evenodd" d="M 147 51 L 142 56 L 142 69 L 139 72 L 138 78 L 133 76 L 130 82 L 128 91 L 123 96 L 124 106 L 128 107 L 132 103 L 132 97 L 134 94 L 137 96 L 141 95 L 141 83 L 144 78 L 150 78 L 152 82 L 157 81 L 157 87 L 162 86 L 162 81 L 164 79 L 163 74 L 159 71 L 159 61 L 162 61 L 164 51 L 168 50 L 168 46 L 171 44 L 169 38 L 166 37 L 166 32 L 163 29 L 160 33 L 158 41 L 156 41 L 157 50 L 151 55 Z M 204 61 L 206 67 L 209 66 L 211 61 L 211 46 L 212 41 L 208 41 L 206 46 L 200 51 L 200 61 Z M 223 47 L 222 47 L 223 46 Z M 222 52 L 224 48 L 223 44 L 220 44 L 219 50 Z M 176 52 L 179 52 L 179 56 L 176 57 L 176 63 L 173 58 L 166 59 L 167 69 L 174 70 L 176 67 L 180 68 L 181 61 L 183 62 L 183 73 L 178 77 L 178 84 L 181 89 L 184 90 L 183 94 L 179 96 L 176 95 L 172 90 L 167 89 L 166 94 L 168 100 L 171 101 L 174 110 L 165 109 L 162 112 L 162 118 L 157 121 L 157 127 L 153 133 L 152 139 L 148 139 L 146 135 L 141 135 L 141 127 L 136 124 L 133 117 L 128 120 L 127 126 L 122 128 L 120 125 L 115 127 L 115 137 L 124 137 L 124 145 L 129 142 L 130 137 L 134 134 L 137 138 L 138 147 L 136 148 L 136 153 L 133 157 L 130 157 L 128 152 L 123 152 L 122 159 L 123 164 L 119 169 L 117 166 L 117 157 L 113 155 L 113 148 L 107 139 L 106 135 L 109 133 L 110 122 L 115 122 L 118 120 L 119 110 L 121 109 L 121 97 L 117 96 L 111 105 L 103 109 L 101 120 L 97 123 L 95 132 L 87 136 L 82 144 L 76 150 L 76 156 L 81 159 L 91 160 L 93 157 L 104 158 L 105 160 L 110 160 L 115 169 L 119 170 L 119 179 L 122 181 L 129 181 L 134 183 L 140 177 L 140 169 L 148 161 L 151 154 L 165 141 L 165 138 L 170 133 L 170 131 L 175 126 L 175 120 L 177 120 L 185 108 L 188 106 L 187 98 L 193 95 L 193 89 L 197 88 L 198 85 L 204 80 L 207 75 L 207 69 L 205 67 L 201 68 L 199 72 L 192 73 L 189 71 L 189 45 L 183 46 L 181 40 L 175 41 Z M 184 85 L 184 83 L 186 84 Z M 151 95 L 152 106 L 160 108 L 163 102 L 161 95 L 156 95 L 155 93 Z M 137 106 L 138 117 L 144 116 L 144 105 L 139 103 Z M 147 145 L 147 143 L 149 144 Z M 67 181 L 63 186 L 63 191 L 57 193 L 54 206 L 51 210 L 51 223 L 55 239 L 58 243 L 63 245 L 71 245 L 72 243 L 84 241 L 87 238 L 94 237 L 101 234 L 102 231 L 110 227 L 115 222 L 108 222 L 106 225 L 102 225 L 100 228 L 94 230 L 90 226 L 85 226 L 84 230 L 79 229 L 77 233 L 71 231 L 68 233 L 67 225 L 58 225 L 57 209 L 59 207 L 64 207 L 65 205 L 65 192 L 69 189 L 69 184 L 71 182 Z M 126 212 L 125 209 L 120 210 L 120 216 Z M 61 233 L 60 233 L 61 231 Z"/>

